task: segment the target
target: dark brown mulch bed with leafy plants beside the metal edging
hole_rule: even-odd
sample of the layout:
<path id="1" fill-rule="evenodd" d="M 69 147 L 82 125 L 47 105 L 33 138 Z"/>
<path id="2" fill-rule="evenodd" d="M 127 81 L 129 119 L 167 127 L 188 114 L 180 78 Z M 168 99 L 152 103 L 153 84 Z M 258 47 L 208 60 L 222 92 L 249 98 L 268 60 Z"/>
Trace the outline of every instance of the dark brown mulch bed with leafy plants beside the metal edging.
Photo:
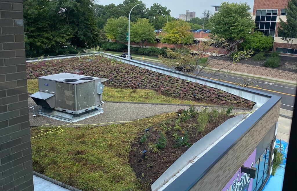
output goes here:
<path id="1" fill-rule="evenodd" d="M 219 114 L 219 117 L 215 122 L 213 119 L 209 118 L 203 132 L 199 132 L 199 130 L 195 127 L 195 124 L 197 124 L 197 115 L 185 121 L 184 124 L 182 122 L 179 123 L 182 131 L 173 129 L 178 117 L 172 117 L 169 122 L 163 122 L 168 128 L 172 128 L 165 131 L 165 137 L 167 139 L 166 146 L 160 152 L 154 152 L 153 149 L 149 147 L 149 144 L 156 143 L 160 137 L 160 131 L 164 132 L 161 127 L 162 124 L 154 125 L 149 128 L 148 138 L 145 143 L 140 143 L 140 138 L 146 133 L 140 132 L 138 137 L 136 137 L 131 143 L 128 160 L 130 166 L 136 174 L 136 177 L 140 180 L 143 190 L 151 190 L 151 184 L 153 184 L 182 154 L 184 154 L 184 152 L 186 152 L 192 144 L 231 117 L 234 116 Z M 177 140 L 173 134 L 176 133 L 178 136 L 184 136 L 185 132 L 187 132 L 189 136 L 188 142 L 190 145 L 188 147 L 177 147 Z M 145 153 L 145 157 L 143 157 L 142 151 L 145 149 L 147 152 Z"/>

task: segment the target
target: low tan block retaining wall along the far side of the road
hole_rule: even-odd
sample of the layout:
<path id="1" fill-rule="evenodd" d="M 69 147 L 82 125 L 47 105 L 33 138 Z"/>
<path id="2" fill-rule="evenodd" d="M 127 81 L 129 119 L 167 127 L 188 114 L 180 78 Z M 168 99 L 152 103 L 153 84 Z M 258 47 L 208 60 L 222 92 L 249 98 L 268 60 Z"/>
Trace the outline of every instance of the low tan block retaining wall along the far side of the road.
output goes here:
<path id="1" fill-rule="evenodd" d="M 283 43 L 280 43 L 280 44 L 283 44 Z M 243 72 L 248 74 L 268 76 L 268 77 L 274 77 L 279 79 L 287 79 L 292 81 L 297 80 L 297 73 L 294 73 L 294 72 L 277 70 L 272 68 L 264 68 L 261 66 L 252 66 L 252 65 L 240 64 L 240 63 L 236 63 L 228 66 L 229 64 L 230 62 L 227 62 L 227 61 L 214 61 L 213 63 L 211 63 L 210 67 L 220 69 L 227 66 L 226 68 L 224 68 L 224 70 L 238 71 L 238 72 Z"/>

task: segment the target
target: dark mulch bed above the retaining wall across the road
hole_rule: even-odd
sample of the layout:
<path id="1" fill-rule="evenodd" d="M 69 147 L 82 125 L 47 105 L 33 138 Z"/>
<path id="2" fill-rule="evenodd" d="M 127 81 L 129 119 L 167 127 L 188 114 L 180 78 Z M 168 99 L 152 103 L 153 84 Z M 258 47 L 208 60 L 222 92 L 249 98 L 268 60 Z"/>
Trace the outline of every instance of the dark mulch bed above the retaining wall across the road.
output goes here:
<path id="1" fill-rule="evenodd" d="M 266 58 L 268 58 L 268 55 L 266 55 Z M 224 61 L 232 61 L 229 57 L 222 57 L 220 59 L 221 60 L 224 60 Z M 241 61 L 239 61 L 237 63 L 248 64 L 248 65 L 252 65 L 252 66 L 261 66 L 261 67 L 267 68 L 267 67 L 264 66 L 265 61 L 266 60 L 263 60 L 263 61 L 254 61 L 254 60 L 252 60 L 252 57 L 251 57 L 251 58 L 249 58 L 247 60 L 241 60 Z M 279 67 L 272 68 L 272 69 L 283 70 L 283 71 L 290 71 L 290 72 L 297 73 L 297 70 L 295 70 L 295 69 L 286 68 L 285 67 L 285 63 L 286 62 L 297 66 L 297 58 L 296 57 L 280 56 Z"/>

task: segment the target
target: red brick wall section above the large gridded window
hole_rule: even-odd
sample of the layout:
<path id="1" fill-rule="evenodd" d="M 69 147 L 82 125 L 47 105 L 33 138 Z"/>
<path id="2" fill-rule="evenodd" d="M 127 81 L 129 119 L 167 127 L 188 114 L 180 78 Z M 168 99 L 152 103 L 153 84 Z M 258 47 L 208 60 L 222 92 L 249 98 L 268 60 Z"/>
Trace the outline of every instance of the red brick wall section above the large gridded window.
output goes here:
<path id="1" fill-rule="evenodd" d="M 278 9 L 277 15 L 280 15 L 280 9 L 285 9 L 287 4 L 288 0 L 254 0 L 253 15 L 257 9 Z"/>

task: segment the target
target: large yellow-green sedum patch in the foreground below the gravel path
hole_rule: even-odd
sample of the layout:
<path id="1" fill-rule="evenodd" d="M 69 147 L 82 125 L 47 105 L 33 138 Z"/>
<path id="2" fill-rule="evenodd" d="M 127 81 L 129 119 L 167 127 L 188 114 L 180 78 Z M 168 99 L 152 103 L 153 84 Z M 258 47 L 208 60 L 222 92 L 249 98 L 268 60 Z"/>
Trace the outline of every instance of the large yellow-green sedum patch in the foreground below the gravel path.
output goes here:
<path id="1" fill-rule="evenodd" d="M 130 144 L 139 131 L 168 117 L 99 127 L 65 126 L 61 133 L 38 136 L 31 139 L 33 170 L 80 190 L 143 190 L 128 163 Z M 31 137 L 45 128 L 31 128 Z"/>

